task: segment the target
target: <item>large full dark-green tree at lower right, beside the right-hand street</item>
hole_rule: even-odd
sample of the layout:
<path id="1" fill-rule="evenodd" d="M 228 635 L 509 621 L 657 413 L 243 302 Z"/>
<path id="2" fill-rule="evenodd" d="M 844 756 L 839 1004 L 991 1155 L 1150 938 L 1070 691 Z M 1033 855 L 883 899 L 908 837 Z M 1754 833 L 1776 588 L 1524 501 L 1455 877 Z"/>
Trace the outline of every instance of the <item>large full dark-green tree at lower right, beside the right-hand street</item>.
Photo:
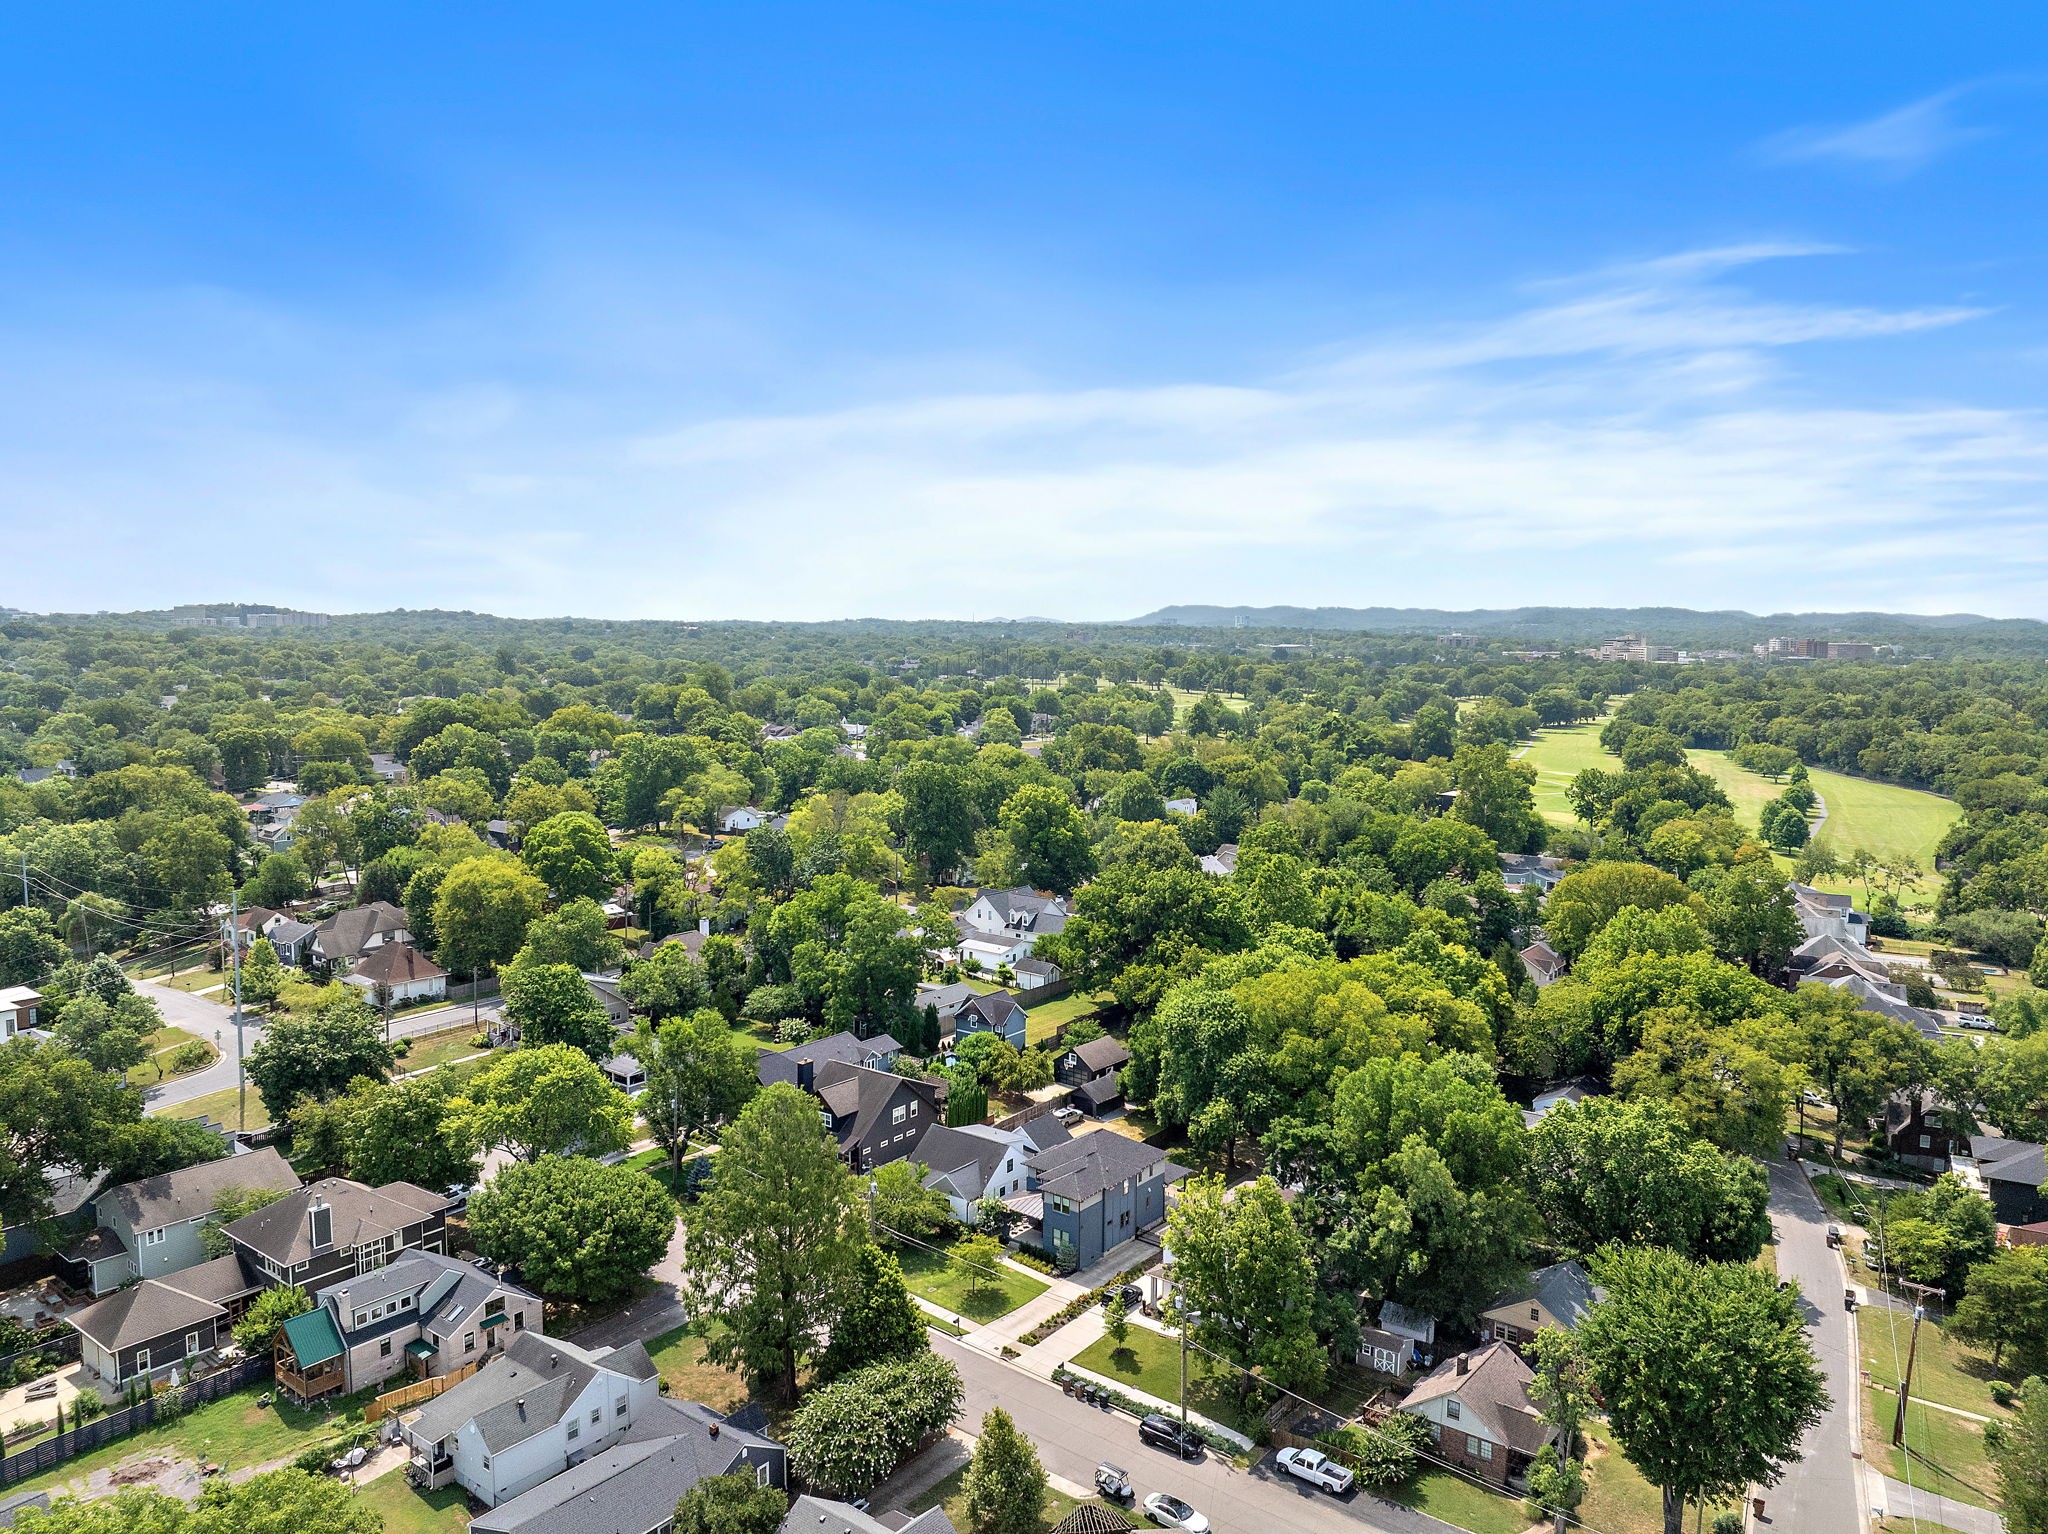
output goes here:
<path id="1" fill-rule="evenodd" d="M 1579 1346 L 1614 1438 L 1663 1493 L 1665 1534 L 1688 1501 L 1776 1485 L 1829 1405 L 1798 1290 L 1659 1247 L 1610 1253 L 1595 1276 L 1608 1292 Z"/>

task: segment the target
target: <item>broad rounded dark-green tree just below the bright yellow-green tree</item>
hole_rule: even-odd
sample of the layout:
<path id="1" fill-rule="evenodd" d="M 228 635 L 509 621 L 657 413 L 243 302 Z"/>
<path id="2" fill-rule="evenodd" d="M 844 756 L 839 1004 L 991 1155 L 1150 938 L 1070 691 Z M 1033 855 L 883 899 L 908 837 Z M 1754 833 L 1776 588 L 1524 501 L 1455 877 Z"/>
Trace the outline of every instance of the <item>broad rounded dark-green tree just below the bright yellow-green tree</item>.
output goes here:
<path id="1" fill-rule="evenodd" d="M 543 1294 L 608 1301 L 668 1251 L 676 1202 L 647 1176 L 582 1155 L 504 1167 L 469 1200 L 477 1251 L 516 1264 Z"/>

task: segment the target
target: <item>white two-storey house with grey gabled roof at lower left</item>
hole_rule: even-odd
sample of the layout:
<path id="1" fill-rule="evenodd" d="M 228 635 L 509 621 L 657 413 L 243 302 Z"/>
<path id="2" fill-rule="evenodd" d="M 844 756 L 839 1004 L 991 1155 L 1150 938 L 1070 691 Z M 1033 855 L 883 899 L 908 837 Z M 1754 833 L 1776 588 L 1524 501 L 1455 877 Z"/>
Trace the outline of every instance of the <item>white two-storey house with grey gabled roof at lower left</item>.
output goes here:
<path id="1" fill-rule="evenodd" d="M 659 1382 L 637 1341 L 586 1352 L 520 1331 L 406 1425 L 410 1477 L 422 1491 L 453 1481 L 498 1507 L 621 1442 L 662 1405 Z"/>

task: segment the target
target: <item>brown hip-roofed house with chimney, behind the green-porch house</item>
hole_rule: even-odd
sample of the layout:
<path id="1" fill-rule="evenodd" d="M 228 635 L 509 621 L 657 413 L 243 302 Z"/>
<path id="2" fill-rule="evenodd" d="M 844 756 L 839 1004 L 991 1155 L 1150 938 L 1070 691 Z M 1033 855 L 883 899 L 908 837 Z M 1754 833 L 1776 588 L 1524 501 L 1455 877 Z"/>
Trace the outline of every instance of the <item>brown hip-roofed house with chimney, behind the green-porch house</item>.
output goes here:
<path id="1" fill-rule="evenodd" d="M 373 1272 L 399 1251 L 446 1249 L 449 1200 L 410 1182 L 369 1188 L 322 1178 L 223 1227 L 266 1284 L 313 1292 Z"/>

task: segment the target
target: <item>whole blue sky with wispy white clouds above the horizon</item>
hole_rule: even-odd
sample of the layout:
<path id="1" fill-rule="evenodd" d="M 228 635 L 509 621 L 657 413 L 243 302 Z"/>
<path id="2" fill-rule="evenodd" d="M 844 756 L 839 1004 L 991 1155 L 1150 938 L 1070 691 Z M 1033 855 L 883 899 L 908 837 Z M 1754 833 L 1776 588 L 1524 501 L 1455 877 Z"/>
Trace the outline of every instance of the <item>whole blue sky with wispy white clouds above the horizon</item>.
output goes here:
<path id="1" fill-rule="evenodd" d="M 0 604 L 2048 616 L 2038 4 L 16 8 L 0 145 Z"/>

